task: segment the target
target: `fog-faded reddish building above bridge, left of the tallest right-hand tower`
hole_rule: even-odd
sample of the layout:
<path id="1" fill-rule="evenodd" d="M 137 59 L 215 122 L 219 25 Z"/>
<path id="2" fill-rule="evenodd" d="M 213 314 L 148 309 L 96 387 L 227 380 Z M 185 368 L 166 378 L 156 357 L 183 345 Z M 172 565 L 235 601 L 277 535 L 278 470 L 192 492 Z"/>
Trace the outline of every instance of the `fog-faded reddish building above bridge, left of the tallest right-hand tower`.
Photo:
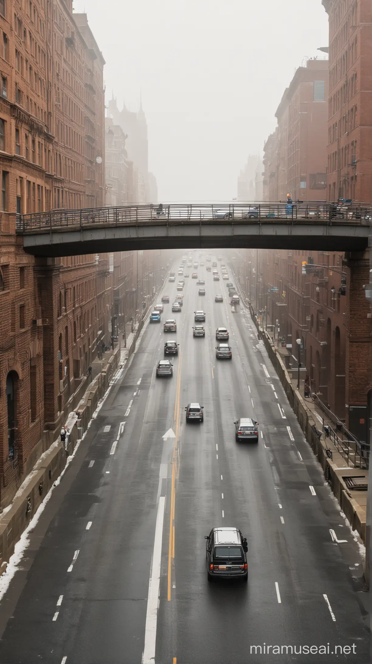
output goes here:
<path id="1" fill-rule="evenodd" d="M 285 201 L 287 193 L 300 201 L 326 199 L 327 90 L 327 60 L 307 60 L 296 70 L 264 146 L 266 200 Z"/>

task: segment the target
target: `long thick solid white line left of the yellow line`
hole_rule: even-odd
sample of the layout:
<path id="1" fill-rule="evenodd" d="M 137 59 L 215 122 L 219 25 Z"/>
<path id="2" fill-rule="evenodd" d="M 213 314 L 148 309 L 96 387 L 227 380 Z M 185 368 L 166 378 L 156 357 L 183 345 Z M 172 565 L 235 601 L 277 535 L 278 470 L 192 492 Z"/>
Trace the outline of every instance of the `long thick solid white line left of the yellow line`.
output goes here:
<path id="1" fill-rule="evenodd" d="M 151 576 L 149 578 L 149 592 L 147 595 L 145 646 L 143 648 L 142 664 L 153 664 L 155 661 L 157 606 L 159 604 L 161 542 L 163 540 L 164 509 L 165 509 L 165 496 L 160 496 L 159 505 L 157 507 L 155 539 L 153 542 L 152 568 L 151 568 Z"/>

